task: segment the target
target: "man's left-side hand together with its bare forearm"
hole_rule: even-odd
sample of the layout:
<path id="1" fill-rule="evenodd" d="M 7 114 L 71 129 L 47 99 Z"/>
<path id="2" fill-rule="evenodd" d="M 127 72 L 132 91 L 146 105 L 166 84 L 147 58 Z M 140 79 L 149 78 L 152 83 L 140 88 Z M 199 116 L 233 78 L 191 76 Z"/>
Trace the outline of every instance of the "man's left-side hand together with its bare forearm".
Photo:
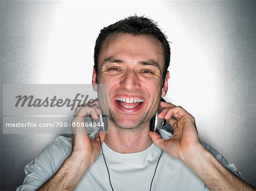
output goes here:
<path id="1" fill-rule="evenodd" d="M 49 179 L 44 182 L 38 191 L 71 191 L 79 184 L 82 176 L 96 160 L 101 150 L 101 141 L 103 142 L 106 134 L 102 133 L 91 139 L 85 130 L 84 118 L 90 114 L 92 118 L 97 119 L 101 113 L 98 109 L 98 101 L 95 101 L 94 107 L 77 107 L 75 117 L 72 120 L 72 152 L 65 160 L 61 168 Z M 74 126 L 73 126 L 74 125 Z M 100 136 L 100 138 L 99 138 Z"/>

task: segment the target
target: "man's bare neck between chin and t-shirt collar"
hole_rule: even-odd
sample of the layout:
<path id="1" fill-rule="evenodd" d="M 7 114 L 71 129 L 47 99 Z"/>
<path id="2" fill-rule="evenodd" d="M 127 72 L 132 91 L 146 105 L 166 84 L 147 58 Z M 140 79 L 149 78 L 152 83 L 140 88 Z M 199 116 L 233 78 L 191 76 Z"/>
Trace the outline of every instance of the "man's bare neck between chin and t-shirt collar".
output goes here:
<path id="1" fill-rule="evenodd" d="M 110 126 L 105 143 L 109 148 L 119 153 L 141 152 L 152 144 L 148 130 L 148 128 L 131 130 Z"/>

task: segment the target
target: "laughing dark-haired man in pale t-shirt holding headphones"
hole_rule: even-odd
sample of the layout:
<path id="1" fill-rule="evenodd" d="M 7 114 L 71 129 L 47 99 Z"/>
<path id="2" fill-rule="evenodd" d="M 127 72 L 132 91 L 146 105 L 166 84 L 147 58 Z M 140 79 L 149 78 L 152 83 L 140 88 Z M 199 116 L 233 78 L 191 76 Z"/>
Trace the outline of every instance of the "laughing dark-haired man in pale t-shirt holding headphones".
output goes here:
<path id="1" fill-rule="evenodd" d="M 160 101 L 169 63 L 168 41 L 152 20 L 131 16 L 102 29 L 92 79 L 98 101 L 78 107 L 72 122 L 84 122 L 86 114 L 97 119 L 100 107 L 109 112 L 109 134 L 92 139 L 73 126 L 72 141 L 60 137 L 47 145 L 26 166 L 17 190 L 254 190 L 234 174 L 233 164 L 199 141 L 187 111 Z M 97 84 L 109 85 L 108 97 Z M 166 140 L 149 131 L 159 105 L 158 118 L 174 128 Z"/>

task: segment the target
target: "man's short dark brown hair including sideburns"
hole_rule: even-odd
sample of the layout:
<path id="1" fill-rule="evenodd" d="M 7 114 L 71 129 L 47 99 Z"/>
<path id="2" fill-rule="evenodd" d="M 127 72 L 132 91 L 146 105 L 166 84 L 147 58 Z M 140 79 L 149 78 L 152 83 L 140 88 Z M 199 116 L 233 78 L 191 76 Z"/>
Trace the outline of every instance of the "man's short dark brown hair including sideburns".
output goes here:
<path id="1" fill-rule="evenodd" d="M 98 54 L 100 53 L 102 46 L 106 39 L 114 33 L 128 33 L 131 35 L 151 35 L 158 39 L 163 46 L 164 51 L 164 71 L 163 80 L 166 77 L 167 69 L 170 65 L 170 45 L 167 41 L 166 35 L 158 28 L 153 20 L 148 19 L 144 16 L 129 16 L 125 19 L 119 20 L 118 22 L 111 24 L 108 27 L 101 29 L 100 34 L 96 40 L 94 47 L 94 68 L 98 73 Z"/>

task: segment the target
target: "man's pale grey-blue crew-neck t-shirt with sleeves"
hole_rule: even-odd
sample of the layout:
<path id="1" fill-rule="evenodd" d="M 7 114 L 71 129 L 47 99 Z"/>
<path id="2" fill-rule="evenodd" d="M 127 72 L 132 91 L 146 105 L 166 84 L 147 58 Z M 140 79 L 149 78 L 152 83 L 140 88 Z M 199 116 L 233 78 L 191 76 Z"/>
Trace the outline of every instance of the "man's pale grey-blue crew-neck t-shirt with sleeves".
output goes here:
<path id="1" fill-rule="evenodd" d="M 164 136 L 165 139 L 169 137 L 166 136 L 166 132 Z M 228 163 L 222 155 L 218 154 L 207 143 L 202 144 L 226 168 L 240 175 L 234 164 Z M 115 191 L 150 190 L 156 163 L 162 151 L 158 146 L 152 143 L 146 150 L 131 154 L 115 152 L 105 143 L 102 143 L 102 149 L 106 163 L 108 164 L 110 180 Z M 71 138 L 59 137 L 49 143 L 36 155 L 32 162 L 26 165 L 26 177 L 23 184 L 16 191 L 30 191 L 39 188 L 40 185 L 46 182 L 59 169 L 65 158 L 71 154 L 71 150 Z M 96 161 L 86 171 L 75 190 L 112 190 L 102 153 L 100 153 Z M 172 158 L 166 152 L 163 152 L 156 169 L 151 190 L 203 191 L 208 189 L 181 160 Z"/>

